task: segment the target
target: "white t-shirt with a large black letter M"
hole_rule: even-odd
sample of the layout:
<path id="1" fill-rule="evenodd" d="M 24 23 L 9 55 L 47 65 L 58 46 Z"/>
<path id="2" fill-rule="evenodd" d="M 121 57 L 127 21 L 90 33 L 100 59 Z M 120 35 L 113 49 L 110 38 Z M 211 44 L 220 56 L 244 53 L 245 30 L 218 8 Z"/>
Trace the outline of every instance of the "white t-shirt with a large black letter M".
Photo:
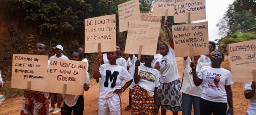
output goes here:
<path id="1" fill-rule="evenodd" d="M 99 67 L 101 74 L 99 85 L 99 98 L 109 98 L 113 96 L 113 91 L 122 88 L 122 81 L 132 80 L 126 68 L 120 65 L 103 64 Z"/>

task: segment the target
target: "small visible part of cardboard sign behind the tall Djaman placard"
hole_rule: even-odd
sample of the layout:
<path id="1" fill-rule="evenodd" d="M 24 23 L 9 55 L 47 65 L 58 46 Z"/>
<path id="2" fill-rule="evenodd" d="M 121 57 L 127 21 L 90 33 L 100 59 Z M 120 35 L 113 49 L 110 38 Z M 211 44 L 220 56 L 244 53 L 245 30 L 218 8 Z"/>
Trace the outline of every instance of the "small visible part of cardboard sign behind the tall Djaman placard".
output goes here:
<path id="1" fill-rule="evenodd" d="M 161 18 L 162 16 L 153 16 L 152 12 L 140 13 L 140 21 L 160 22 Z"/>

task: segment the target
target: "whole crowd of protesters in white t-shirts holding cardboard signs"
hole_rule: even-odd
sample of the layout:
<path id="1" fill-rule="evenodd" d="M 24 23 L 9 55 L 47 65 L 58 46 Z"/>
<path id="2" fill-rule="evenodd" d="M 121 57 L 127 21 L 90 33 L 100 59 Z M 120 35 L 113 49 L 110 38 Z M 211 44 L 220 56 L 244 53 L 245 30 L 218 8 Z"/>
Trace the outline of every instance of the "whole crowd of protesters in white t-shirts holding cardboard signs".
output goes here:
<path id="1" fill-rule="evenodd" d="M 215 43 L 209 42 L 209 54 L 183 57 L 183 78 L 180 81 L 175 58 L 174 42 L 168 21 L 164 23 L 168 33 L 169 45 L 157 45 L 154 56 L 143 55 L 140 59 L 129 54 L 126 61 L 122 57 L 122 48 L 105 54 L 98 53 L 93 78 L 99 83 L 98 115 L 122 115 L 121 94 L 129 88 L 129 104 L 132 115 L 233 115 L 231 84 L 232 75 L 220 65 L 224 54 L 215 49 Z M 63 47 L 53 47 L 55 55 L 51 58 L 69 59 L 62 53 Z M 34 54 L 45 55 L 47 46 L 38 42 Z M 84 47 L 73 51 L 70 60 L 87 62 Z M 49 61 L 48 61 L 49 65 Z M 86 73 L 84 91 L 90 88 L 89 73 Z M 125 80 L 125 83 L 123 83 Z M 4 84 L 0 73 L 0 87 Z M 247 115 L 256 115 L 256 82 L 246 82 L 244 95 L 250 102 Z M 27 100 L 28 98 L 28 100 Z M 27 102 L 28 101 L 28 102 Z M 64 102 L 64 106 L 60 104 Z M 55 104 L 57 103 L 57 107 Z M 85 102 L 86 103 L 86 102 Z M 49 104 L 51 105 L 49 107 Z M 229 107 L 227 107 L 227 104 Z M 161 108 L 161 110 L 159 110 Z M 21 115 L 49 115 L 61 112 L 61 115 L 83 115 L 84 96 L 24 91 Z"/>

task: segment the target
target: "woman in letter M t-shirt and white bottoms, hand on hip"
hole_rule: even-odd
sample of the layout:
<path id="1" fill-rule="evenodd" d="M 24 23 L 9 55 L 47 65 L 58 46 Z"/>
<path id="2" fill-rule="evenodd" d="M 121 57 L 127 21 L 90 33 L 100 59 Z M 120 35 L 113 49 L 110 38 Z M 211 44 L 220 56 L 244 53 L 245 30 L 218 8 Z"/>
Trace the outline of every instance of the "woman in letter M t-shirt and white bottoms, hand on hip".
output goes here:
<path id="1" fill-rule="evenodd" d="M 133 82 L 133 78 L 126 68 L 117 65 L 116 59 L 118 51 L 108 52 L 107 58 L 109 63 L 102 64 L 102 55 L 98 54 L 97 63 L 94 69 L 93 78 L 100 79 L 99 98 L 98 98 L 98 115 L 121 115 L 122 103 L 121 93 L 125 91 Z M 125 85 L 122 86 L 122 81 Z"/>

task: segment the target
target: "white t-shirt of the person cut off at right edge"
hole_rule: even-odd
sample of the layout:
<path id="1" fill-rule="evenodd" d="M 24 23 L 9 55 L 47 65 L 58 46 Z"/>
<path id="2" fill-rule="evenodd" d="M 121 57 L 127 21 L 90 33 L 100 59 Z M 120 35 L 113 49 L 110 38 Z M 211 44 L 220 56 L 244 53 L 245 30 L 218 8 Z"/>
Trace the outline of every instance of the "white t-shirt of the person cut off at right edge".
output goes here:
<path id="1" fill-rule="evenodd" d="M 251 82 L 244 83 L 244 90 L 251 90 Z M 256 96 L 249 100 L 248 110 L 246 112 L 248 115 L 256 115 Z"/>

